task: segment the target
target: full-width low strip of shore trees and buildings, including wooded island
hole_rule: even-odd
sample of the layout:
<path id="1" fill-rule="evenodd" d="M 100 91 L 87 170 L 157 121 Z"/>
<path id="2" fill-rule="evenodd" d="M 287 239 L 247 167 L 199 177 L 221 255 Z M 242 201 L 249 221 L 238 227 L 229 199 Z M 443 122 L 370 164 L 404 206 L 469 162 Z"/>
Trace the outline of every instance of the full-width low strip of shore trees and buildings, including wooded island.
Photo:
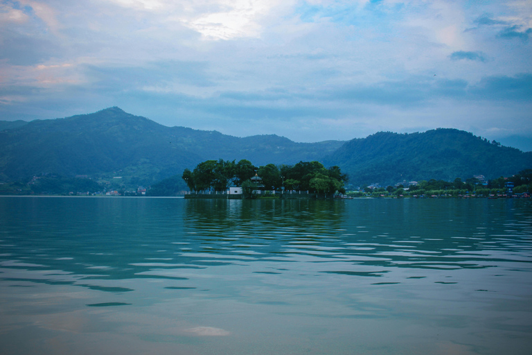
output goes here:
<path id="1" fill-rule="evenodd" d="M 120 183 L 120 179 L 116 184 Z M 529 198 L 532 168 L 492 180 L 477 175 L 453 181 L 403 181 L 393 185 L 350 184 L 339 166 L 317 161 L 294 165 L 255 166 L 247 159 L 206 160 L 182 175 L 173 175 L 136 189 L 121 189 L 114 181 L 57 174 L 35 176 L 30 182 L 0 183 L 0 195 L 21 196 L 186 196 L 186 198 Z M 186 188 L 184 189 L 184 183 Z"/>

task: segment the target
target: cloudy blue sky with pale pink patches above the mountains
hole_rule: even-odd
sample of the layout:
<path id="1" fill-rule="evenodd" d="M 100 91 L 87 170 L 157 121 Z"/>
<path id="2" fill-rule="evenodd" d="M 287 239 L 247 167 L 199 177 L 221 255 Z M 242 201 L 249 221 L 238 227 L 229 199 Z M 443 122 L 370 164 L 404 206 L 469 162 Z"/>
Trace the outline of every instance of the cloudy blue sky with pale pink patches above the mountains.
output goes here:
<path id="1" fill-rule="evenodd" d="M 0 120 L 118 106 L 293 141 L 532 150 L 532 0 L 0 0 Z"/>

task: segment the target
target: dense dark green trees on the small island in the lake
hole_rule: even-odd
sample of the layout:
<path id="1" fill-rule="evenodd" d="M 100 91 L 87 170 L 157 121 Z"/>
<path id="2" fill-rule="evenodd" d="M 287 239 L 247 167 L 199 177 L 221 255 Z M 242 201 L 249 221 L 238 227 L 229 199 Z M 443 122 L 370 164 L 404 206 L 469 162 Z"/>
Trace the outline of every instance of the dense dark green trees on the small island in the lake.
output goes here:
<path id="1" fill-rule="evenodd" d="M 260 184 L 252 181 L 258 175 Z M 290 189 L 311 192 L 345 192 L 346 175 L 338 166 L 325 168 L 320 162 L 299 162 L 293 166 L 266 164 L 256 167 L 249 160 L 207 160 L 197 164 L 193 171 L 185 169 L 181 176 L 191 191 L 225 191 L 231 186 L 241 186 L 245 193 L 253 189 Z"/>

